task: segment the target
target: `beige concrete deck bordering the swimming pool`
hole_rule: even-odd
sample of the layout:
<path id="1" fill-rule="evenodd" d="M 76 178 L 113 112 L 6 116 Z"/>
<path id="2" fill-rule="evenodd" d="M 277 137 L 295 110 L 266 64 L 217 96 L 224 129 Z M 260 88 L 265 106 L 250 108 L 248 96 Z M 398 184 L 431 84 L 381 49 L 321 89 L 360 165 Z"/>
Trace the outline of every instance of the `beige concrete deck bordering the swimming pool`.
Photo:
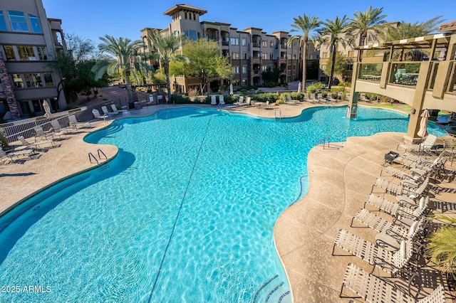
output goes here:
<path id="1" fill-rule="evenodd" d="M 346 102 L 341 105 L 346 105 Z M 130 110 L 130 114 L 123 117 L 151 115 L 157 110 L 182 106 L 185 105 L 154 105 Z M 284 118 L 299 115 L 311 106 L 280 105 L 269 109 L 234 107 L 227 110 L 269 118 L 277 117 L 279 112 Z M 88 132 L 103 128 L 108 123 L 110 121 L 96 121 L 90 129 L 63 136 L 57 142 L 60 147 L 42 152 L 38 159 L 25 161 L 24 164 L 0 164 L 0 213 L 41 188 L 96 166 L 90 164 L 89 152 L 96 155 L 97 150 L 102 149 L 112 159 L 118 152 L 117 147 L 83 142 Z M 329 147 L 319 145 L 311 149 L 308 160 L 309 192 L 301 201 L 286 209 L 274 227 L 276 248 L 286 268 L 294 302 L 353 300 L 338 297 L 346 265 L 353 262 L 366 270 L 371 270 L 371 267 L 356 257 L 332 256 L 333 243 L 340 228 L 351 230 L 367 240 L 375 238 L 375 232 L 369 228 L 350 228 L 351 218 L 363 207 L 375 178 L 380 176 L 384 155 L 403 142 L 403 135 L 380 133 L 371 137 L 350 137 L 347 142 L 331 142 Z M 456 162 L 452 169 L 456 169 Z M 456 188 L 455 184 L 442 183 L 439 186 Z M 444 191 L 434 200 L 454 202 L 455 191 Z"/>

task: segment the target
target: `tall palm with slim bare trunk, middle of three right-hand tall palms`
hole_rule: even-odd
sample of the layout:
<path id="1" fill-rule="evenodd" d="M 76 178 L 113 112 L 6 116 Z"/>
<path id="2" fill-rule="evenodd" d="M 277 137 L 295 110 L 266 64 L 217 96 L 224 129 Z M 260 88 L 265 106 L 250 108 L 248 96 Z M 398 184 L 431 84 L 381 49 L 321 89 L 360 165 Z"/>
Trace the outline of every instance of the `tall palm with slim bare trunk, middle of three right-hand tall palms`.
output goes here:
<path id="1" fill-rule="evenodd" d="M 350 19 L 344 15 L 342 18 L 338 16 L 336 19 L 323 22 L 323 28 L 319 31 L 321 43 L 328 43 L 332 54 L 331 74 L 329 75 L 328 89 L 331 90 L 331 83 L 333 81 L 334 66 L 336 65 L 336 53 L 338 45 L 340 44 L 345 48 L 347 45 L 353 45 L 353 38 L 350 33 Z"/>

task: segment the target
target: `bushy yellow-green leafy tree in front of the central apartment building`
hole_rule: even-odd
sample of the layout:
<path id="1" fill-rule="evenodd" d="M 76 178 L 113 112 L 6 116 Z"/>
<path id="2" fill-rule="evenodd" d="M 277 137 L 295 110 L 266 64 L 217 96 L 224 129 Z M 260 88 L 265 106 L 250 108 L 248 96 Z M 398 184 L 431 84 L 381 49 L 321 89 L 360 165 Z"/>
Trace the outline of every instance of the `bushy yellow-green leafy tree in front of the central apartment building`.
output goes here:
<path id="1" fill-rule="evenodd" d="M 232 66 L 228 58 L 220 55 L 219 44 L 216 41 L 187 41 L 182 52 L 188 60 L 175 65 L 173 70 L 177 74 L 197 78 L 201 83 L 202 92 L 206 90 L 209 78 L 232 78 Z"/>

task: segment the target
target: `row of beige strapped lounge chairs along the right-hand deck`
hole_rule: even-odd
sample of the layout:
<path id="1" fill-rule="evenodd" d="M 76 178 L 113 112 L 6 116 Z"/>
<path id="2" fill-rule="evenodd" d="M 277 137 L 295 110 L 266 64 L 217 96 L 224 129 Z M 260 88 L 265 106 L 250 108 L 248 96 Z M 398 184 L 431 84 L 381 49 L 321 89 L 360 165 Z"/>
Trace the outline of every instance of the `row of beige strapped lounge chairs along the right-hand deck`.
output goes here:
<path id="1" fill-rule="evenodd" d="M 341 255 L 338 250 L 343 250 L 373 266 L 371 272 L 366 272 L 350 262 L 340 297 L 346 297 L 343 292 L 347 288 L 366 302 L 446 302 L 442 285 L 434 286 L 427 296 L 420 295 L 423 283 L 416 270 L 425 251 L 430 197 L 437 190 L 430 186 L 430 176 L 440 176 L 437 171 L 445 169 L 445 156 L 445 151 L 434 160 L 404 156 L 402 161 L 416 166 L 391 165 L 381 171 L 363 208 L 351 220 L 351 227 L 360 227 L 361 223 L 375 230 L 375 243 L 341 229 L 333 245 L 332 255 Z M 397 201 L 385 194 L 395 196 Z M 385 215 L 379 216 L 366 206 Z M 386 219 L 388 215 L 390 220 Z M 380 272 L 374 275 L 375 270 Z"/>

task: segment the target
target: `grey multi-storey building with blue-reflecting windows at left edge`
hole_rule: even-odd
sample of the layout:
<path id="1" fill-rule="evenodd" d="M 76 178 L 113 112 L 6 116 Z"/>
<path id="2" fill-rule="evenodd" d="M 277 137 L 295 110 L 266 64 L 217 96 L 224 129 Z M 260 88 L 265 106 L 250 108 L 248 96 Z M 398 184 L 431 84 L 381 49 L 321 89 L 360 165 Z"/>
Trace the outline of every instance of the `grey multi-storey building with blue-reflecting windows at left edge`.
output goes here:
<path id="1" fill-rule="evenodd" d="M 63 82 L 49 65 L 66 51 L 61 19 L 48 18 L 41 0 L 0 3 L 0 117 L 19 119 L 66 108 Z"/>

